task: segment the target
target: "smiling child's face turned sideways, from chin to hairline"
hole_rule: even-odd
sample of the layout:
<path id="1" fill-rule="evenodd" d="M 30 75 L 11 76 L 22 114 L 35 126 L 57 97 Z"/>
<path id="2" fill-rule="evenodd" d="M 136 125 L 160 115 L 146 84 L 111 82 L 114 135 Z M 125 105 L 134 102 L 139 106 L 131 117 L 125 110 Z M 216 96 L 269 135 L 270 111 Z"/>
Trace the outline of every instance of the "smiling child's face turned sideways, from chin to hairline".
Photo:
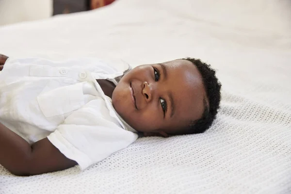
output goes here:
<path id="1" fill-rule="evenodd" d="M 113 91 L 117 113 L 145 134 L 177 134 L 202 117 L 206 92 L 202 77 L 190 61 L 137 66 Z"/>

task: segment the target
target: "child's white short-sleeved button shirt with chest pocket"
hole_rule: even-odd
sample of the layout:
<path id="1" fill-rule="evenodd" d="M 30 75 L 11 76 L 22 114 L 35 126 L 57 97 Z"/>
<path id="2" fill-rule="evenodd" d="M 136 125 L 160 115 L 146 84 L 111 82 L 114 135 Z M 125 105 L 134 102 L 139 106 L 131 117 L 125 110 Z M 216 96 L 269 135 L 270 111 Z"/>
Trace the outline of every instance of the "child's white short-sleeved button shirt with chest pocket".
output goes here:
<path id="1" fill-rule="evenodd" d="M 97 59 L 8 58 L 0 72 L 0 123 L 30 144 L 48 137 L 81 170 L 133 143 L 96 80 L 123 75 Z"/>

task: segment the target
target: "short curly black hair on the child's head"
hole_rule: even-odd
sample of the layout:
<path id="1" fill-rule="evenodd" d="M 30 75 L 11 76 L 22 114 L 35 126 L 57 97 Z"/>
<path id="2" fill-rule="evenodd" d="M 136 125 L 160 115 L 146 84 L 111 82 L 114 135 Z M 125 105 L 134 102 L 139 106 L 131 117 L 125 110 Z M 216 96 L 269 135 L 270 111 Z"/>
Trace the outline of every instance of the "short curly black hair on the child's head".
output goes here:
<path id="1" fill-rule="evenodd" d="M 191 121 L 187 129 L 184 130 L 184 134 L 203 133 L 210 128 L 219 109 L 221 83 L 215 75 L 215 70 L 212 69 L 210 65 L 202 62 L 200 59 L 184 58 L 183 60 L 190 61 L 197 67 L 202 76 L 202 81 L 209 101 L 208 106 L 207 101 L 204 100 L 204 112 L 202 117 L 198 120 Z"/>

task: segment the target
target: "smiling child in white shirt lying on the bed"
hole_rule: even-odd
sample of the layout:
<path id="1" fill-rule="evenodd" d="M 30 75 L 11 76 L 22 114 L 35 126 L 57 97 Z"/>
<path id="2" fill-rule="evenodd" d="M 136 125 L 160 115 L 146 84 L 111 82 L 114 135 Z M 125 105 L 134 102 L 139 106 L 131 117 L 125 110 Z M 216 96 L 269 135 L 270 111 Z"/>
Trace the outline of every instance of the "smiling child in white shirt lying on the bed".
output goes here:
<path id="1" fill-rule="evenodd" d="M 220 103 L 215 71 L 192 58 L 126 74 L 97 59 L 0 55 L 0 65 L 0 164 L 18 176 L 76 164 L 83 170 L 129 146 L 138 132 L 202 133 Z"/>

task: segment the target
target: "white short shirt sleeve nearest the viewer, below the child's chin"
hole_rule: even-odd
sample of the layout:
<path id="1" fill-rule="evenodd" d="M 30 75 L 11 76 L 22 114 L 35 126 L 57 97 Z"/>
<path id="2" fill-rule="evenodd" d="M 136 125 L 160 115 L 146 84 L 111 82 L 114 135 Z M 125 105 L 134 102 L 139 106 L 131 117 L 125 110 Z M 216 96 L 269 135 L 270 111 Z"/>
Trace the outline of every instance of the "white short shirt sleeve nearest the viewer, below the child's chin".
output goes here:
<path id="1" fill-rule="evenodd" d="M 92 100 L 69 115 L 48 139 L 81 170 L 132 144 L 136 133 L 121 128 L 104 111 L 101 100 Z"/>

